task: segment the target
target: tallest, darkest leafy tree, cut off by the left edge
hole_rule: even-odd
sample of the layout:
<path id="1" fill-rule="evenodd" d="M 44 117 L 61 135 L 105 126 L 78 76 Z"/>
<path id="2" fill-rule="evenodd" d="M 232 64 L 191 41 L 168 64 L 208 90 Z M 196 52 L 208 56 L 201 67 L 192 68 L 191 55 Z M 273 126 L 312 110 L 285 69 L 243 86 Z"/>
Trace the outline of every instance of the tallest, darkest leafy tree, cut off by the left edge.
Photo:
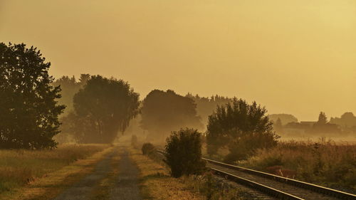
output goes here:
<path id="1" fill-rule="evenodd" d="M 56 147 L 60 87 L 53 87 L 37 48 L 0 43 L 0 147 L 43 149 Z"/>

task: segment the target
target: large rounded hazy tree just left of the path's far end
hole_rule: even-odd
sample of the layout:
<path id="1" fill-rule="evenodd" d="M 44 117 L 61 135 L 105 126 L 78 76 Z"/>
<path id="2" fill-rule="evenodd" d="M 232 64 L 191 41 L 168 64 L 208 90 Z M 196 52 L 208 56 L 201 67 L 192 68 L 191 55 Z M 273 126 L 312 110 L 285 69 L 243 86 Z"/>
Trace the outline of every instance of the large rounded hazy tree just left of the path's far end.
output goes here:
<path id="1" fill-rule="evenodd" d="M 78 142 L 110 143 L 138 113 L 139 95 L 128 83 L 93 75 L 74 95 L 73 132 Z"/>

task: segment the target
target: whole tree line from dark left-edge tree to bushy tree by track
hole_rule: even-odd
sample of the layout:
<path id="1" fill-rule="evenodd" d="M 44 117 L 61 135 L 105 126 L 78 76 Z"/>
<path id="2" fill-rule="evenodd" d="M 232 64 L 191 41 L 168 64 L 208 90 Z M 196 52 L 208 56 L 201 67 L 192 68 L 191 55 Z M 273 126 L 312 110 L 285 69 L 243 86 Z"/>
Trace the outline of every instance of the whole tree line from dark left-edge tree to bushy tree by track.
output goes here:
<path id="1" fill-rule="evenodd" d="M 152 90 L 140 101 L 129 83 L 116 78 L 83 74 L 55 80 L 48 74 L 51 63 L 24 44 L 1 43 L 0 56 L 1 148 L 54 148 L 59 132 L 79 143 L 110 143 L 137 115 L 152 139 L 206 126 L 194 137 L 206 141 L 211 156 L 228 149 L 227 162 L 273 147 L 278 139 L 266 109 L 256 102 L 173 90 Z"/>

